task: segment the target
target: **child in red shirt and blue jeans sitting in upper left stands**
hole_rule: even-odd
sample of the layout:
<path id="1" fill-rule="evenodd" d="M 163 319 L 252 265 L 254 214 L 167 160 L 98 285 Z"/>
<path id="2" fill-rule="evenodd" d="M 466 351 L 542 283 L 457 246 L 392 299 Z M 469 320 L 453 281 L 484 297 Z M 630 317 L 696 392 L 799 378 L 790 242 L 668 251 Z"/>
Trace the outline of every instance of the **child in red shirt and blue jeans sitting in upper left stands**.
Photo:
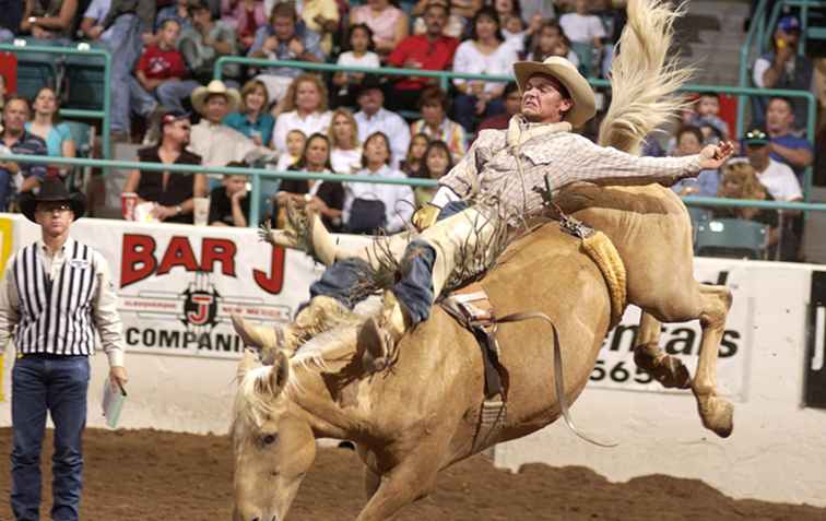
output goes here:
<path id="1" fill-rule="evenodd" d="M 198 82 L 186 79 L 189 71 L 184 55 L 177 49 L 179 34 L 177 20 L 164 21 L 157 29 L 157 43 L 146 47 L 138 61 L 130 97 L 132 109 L 141 116 L 160 113 L 162 108 L 182 113 L 181 100 L 199 86 Z"/>

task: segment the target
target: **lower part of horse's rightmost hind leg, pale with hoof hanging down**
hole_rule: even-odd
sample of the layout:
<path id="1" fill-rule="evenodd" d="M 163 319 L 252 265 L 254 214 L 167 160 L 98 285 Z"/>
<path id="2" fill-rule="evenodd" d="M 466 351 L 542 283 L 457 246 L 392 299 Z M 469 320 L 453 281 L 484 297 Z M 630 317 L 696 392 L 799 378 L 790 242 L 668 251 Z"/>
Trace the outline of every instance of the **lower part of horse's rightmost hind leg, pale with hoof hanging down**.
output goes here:
<path id="1" fill-rule="evenodd" d="M 717 395 L 717 356 L 731 307 L 731 291 L 725 286 L 700 284 L 699 292 L 703 299 L 699 316 L 703 339 L 692 390 L 703 425 L 725 438 L 733 428 L 734 407 Z"/>

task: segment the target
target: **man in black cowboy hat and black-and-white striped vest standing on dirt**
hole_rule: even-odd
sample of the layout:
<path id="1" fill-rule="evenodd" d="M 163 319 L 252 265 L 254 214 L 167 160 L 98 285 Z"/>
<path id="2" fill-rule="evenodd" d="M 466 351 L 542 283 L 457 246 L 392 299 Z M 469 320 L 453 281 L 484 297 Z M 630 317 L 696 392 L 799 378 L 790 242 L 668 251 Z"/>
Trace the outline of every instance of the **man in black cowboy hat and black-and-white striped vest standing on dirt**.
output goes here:
<path id="1" fill-rule="evenodd" d="M 114 283 L 101 253 L 69 236 L 85 198 L 47 179 L 21 210 L 42 238 L 10 260 L 0 287 L 0 345 L 14 339 L 11 506 L 17 521 L 40 519 L 40 449 L 46 414 L 55 424 L 51 519 L 80 519 L 81 438 L 95 330 L 109 359 L 111 386 L 123 386 L 123 332 Z"/>

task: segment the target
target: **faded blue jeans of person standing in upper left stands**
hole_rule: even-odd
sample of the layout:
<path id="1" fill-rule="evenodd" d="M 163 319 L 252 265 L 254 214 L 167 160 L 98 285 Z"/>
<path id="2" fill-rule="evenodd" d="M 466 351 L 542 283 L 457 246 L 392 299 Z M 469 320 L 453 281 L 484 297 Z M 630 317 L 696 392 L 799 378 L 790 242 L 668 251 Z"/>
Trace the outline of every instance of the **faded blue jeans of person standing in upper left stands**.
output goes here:
<path id="1" fill-rule="evenodd" d="M 111 54 L 111 130 L 129 133 L 129 84 L 141 56 L 141 22 L 134 14 L 121 14 L 109 27 L 106 48 Z"/>

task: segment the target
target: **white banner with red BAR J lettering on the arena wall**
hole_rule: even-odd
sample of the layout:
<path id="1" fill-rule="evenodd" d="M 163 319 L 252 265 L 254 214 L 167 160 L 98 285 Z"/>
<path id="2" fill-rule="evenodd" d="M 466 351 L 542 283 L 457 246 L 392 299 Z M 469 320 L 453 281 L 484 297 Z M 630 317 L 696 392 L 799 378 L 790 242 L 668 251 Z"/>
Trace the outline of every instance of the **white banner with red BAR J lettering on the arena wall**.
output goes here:
<path id="1" fill-rule="evenodd" d="M 256 229 L 79 221 L 72 236 L 109 261 L 127 350 L 237 357 L 231 313 L 286 322 L 321 267 Z"/>

